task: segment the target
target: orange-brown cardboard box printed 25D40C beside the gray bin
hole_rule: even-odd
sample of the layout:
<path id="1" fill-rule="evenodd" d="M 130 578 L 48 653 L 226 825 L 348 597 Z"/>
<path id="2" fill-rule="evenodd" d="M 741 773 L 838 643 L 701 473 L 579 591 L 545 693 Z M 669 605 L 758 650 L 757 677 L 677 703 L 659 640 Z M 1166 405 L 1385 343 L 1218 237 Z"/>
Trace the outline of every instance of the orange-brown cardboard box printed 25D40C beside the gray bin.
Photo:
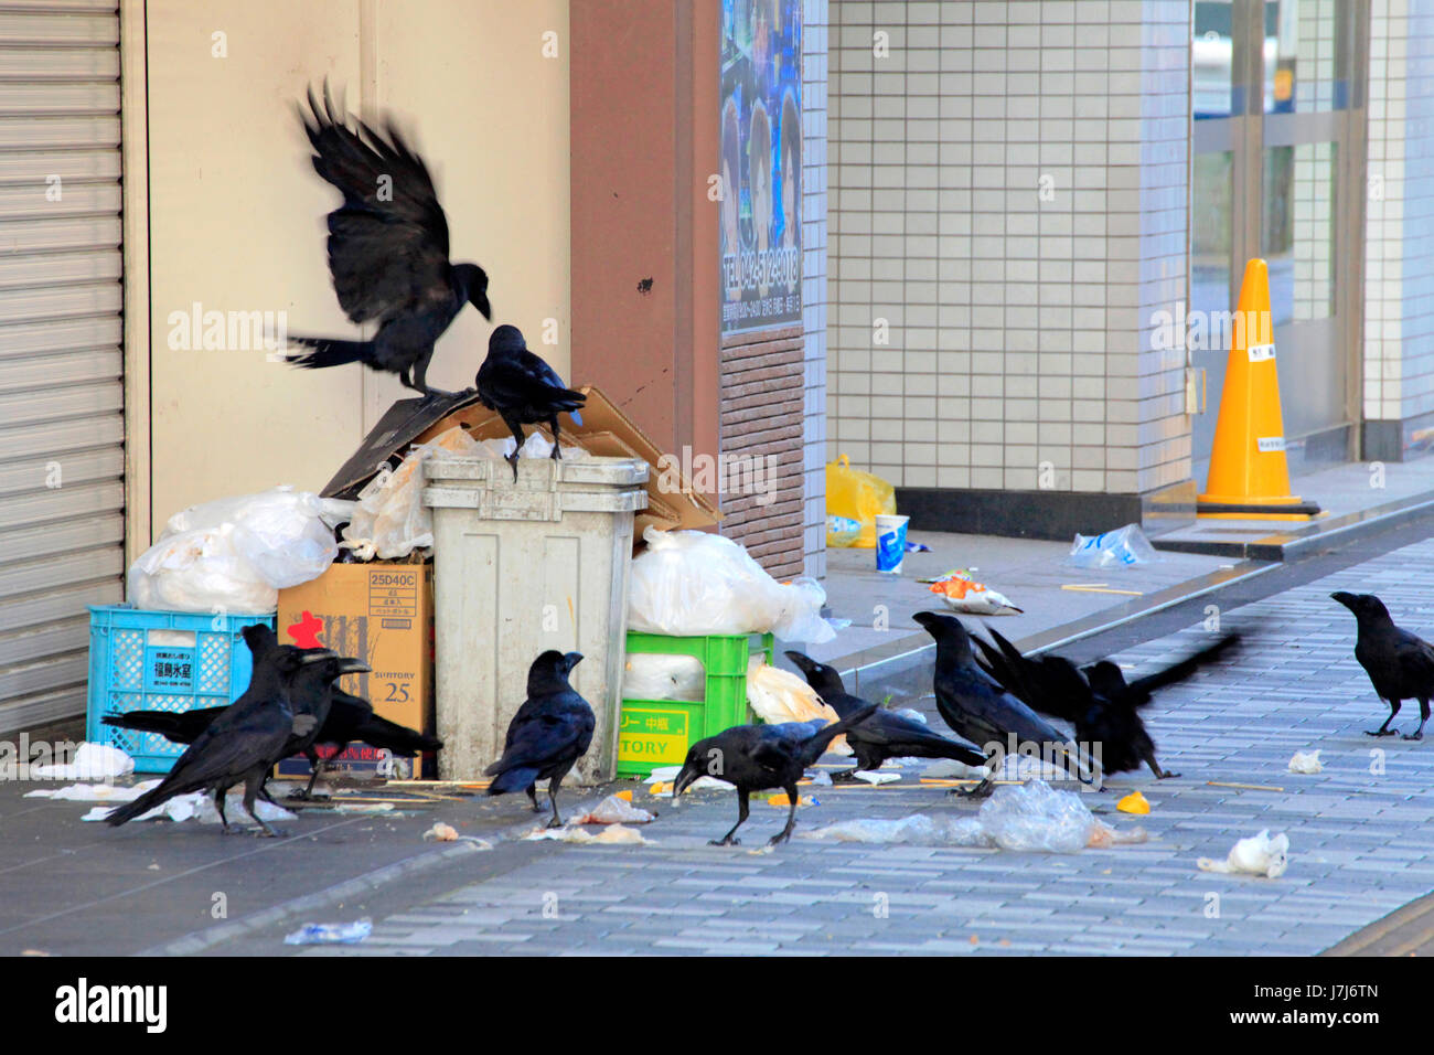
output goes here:
<path id="1" fill-rule="evenodd" d="M 340 688 L 367 699 L 390 722 L 433 735 L 432 564 L 334 564 L 313 581 L 278 591 L 277 626 L 284 644 L 324 646 L 361 659 L 373 670 L 347 675 Z M 367 744 L 353 744 L 336 768 L 374 771 L 381 761 Z M 423 768 L 432 769 L 433 759 L 423 759 Z M 275 772 L 307 775 L 308 764 L 285 759 Z"/>

